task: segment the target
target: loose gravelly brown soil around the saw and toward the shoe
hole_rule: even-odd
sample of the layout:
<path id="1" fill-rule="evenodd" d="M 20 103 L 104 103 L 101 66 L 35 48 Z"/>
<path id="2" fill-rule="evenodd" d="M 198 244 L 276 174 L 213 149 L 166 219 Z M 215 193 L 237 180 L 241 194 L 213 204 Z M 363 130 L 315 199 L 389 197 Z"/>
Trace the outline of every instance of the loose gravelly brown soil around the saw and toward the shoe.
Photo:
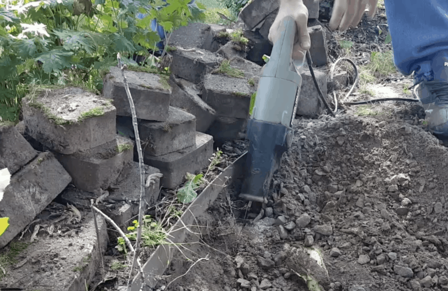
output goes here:
<path id="1" fill-rule="evenodd" d="M 386 24 L 380 8 L 373 21 L 331 33 L 330 58 L 372 64 L 373 51 L 391 52 Z M 363 75 L 354 94 L 337 91 L 339 100 L 412 98 L 411 77 L 373 70 L 374 80 Z M 171 290 L 307 290 L 285 258 L 289 245 L 322 249 L 326 291 L 448 290 L 448 150 L 427 132 L 422 109 L 403 102 L 342 106 L 336 117 L 298 118 L 294 128 L 267 209 L 269 218 L 286 218 L 286 232 L 266 217 L 249 223 L 255 214 L 228 189 L 202 218 L 208 228 L 201 244 L 192 246 L 193 261 L 208 260 L 191 267 L 179 255 L 161 284 L 188 270 Z M 304 215 L 309 224 L 299 219 Z"/>

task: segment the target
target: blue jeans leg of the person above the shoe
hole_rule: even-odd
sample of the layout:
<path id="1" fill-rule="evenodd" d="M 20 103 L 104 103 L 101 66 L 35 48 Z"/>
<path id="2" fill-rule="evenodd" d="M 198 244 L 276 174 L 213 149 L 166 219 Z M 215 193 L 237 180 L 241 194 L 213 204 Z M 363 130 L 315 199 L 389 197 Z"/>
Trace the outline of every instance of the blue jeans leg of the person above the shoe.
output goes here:
<path id="1" fill-rule="evenodd" d="M 394 48 L 394 62 L 404 75 L 430 66 L 432 57 L 448 50 L 447 0 L 384 0 Z"/>

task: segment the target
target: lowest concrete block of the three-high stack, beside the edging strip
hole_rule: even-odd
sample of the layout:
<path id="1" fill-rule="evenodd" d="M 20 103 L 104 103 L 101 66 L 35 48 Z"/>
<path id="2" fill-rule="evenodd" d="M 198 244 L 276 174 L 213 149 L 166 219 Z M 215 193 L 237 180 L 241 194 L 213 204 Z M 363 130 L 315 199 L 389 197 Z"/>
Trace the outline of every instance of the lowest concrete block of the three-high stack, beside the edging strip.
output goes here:
<path id="1" fill-rule="evenodd" d="M 145 164 L 155 167 L 163 174 L 160 181 L 162 187 L 174 189 L 185 181 L 185 174 L 197 174 L 209 164 L 213 155 L 213 137 L 196 133 L 196 145 L 182 152 L 175 152 L 159 157 L 145 154 Z M 135 160 L 135 156 L 134 156 Z"/>

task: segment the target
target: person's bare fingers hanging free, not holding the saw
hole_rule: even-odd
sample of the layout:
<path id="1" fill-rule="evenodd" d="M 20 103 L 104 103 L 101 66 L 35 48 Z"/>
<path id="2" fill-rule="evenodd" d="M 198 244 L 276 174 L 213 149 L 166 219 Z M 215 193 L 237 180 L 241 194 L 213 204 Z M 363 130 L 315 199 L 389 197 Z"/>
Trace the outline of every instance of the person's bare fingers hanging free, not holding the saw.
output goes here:
<path id="1" fill-rule="evenodd" d="M 356 27 L 369 5 L 368 17 L 376 12 L 378 0 L 334 0 L 333 12 L 329 27 L 331 30 L 346 31 L 348 27 Z"/>

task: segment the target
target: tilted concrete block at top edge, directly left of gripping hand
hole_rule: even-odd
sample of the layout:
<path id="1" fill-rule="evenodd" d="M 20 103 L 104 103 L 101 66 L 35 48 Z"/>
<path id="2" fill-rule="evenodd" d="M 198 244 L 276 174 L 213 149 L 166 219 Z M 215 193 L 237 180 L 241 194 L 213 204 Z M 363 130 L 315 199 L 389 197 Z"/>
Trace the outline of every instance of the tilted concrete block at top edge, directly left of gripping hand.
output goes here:
<path id="1" fill-rule="evenodd" d="M 278 9 L 278 7 L 279 1 L 253 0 L 249 5 L 241 10 L 239 17 L 247 25 L 248 29 L 252 30 L 274 10 Z"/>

